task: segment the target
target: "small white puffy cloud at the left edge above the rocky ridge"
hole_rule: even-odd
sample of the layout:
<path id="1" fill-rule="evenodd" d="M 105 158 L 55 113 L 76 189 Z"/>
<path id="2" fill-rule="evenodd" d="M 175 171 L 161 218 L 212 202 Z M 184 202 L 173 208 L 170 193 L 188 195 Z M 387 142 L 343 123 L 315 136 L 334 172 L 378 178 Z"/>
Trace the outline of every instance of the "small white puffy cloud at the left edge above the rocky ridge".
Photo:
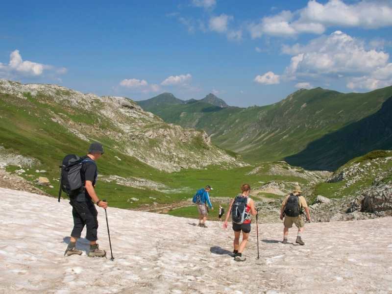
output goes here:
<path id="1" fill-rule="evenodd" d="M 64 74 L 67 72 L 66 68 L 55 68 L 51 65 L 23 60 L 18 49 L 10 54 L 9 63 L 0 63 L 0 74 L 16 75 L 16 76 L 40 76 L 44 71 L 49 71 L 55 74 Z"/>

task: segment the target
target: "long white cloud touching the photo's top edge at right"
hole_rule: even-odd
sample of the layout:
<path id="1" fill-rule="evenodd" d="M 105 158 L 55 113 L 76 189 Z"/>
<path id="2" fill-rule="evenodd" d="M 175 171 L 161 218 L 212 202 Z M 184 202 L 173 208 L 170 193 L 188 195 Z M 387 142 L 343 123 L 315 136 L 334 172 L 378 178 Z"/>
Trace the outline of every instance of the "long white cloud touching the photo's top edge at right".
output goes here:
<path id="1" fill-rule="evenodd" d="M 276 15 L 263 17 L 249 25 L 252 39 L 263 34 L 295 37 L 300 33 L 322 34 L 327 27 L 379 28 L 392 25 L 391 2 L 361 1 L 345 4 L 342 0 L 329 0 L 322 4 L 316 0 L 298 11 L 284 10 Z"/>

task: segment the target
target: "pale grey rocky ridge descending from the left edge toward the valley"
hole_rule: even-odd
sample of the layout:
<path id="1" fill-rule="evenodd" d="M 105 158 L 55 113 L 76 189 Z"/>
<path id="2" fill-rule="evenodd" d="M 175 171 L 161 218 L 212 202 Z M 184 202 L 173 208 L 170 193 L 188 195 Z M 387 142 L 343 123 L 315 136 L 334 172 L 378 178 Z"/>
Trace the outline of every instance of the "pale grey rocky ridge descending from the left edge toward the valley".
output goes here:
<path id="1" fill-rule="evenodd" d="M 52 122 L 81 140 L 110 142 L 109 148 L 159 170 L 200 169 L 206 165 L 239 166 L 234 157 L 213 146 L 203 131 L 164 123 L 123 97 L 82 94 L 57 85 L 21 84 L 0 80 L 0 93 L 12 105 L 45 109 Z M 42 106 L 42 107 L 41 107 Z"/>

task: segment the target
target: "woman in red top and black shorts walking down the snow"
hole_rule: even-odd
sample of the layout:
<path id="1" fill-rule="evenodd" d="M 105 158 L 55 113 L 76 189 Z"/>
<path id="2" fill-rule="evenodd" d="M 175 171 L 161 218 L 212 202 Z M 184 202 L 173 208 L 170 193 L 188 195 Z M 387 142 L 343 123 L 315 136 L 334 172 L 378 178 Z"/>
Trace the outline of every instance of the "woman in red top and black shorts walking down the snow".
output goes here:
<path id="1" fill-rule="evenodd" d="M 235 206 L 235 209 L 237 211 L 242 211 L 242 209 L 245 209 L 245 213 L 242 216 L 242 220 L 241 221 L 237 221 L 237 222 L 242 222 L 241 224 L 234 222 L 233 219 L 233 231 L 234 231 L 234 260 L 235 261 L 245 261 L 246 258 L 242 256 L 242 253 L 245 249 L 246 243 L 248 242 L 248 237 L 249 237 L 249 233 L 250 233 L 250 218 L 251 215 L 255 216 L 257 215 L 257 211 L 255 209 L 254 206 L 254 201 L 253 199 L 251 199 L 249 197 L 249 193 L 250 193 L 250 186 L 248 184 L 244 184 L 241 186 L 241 191 L 242 194 L 239 194 L 238 196 L 236 196 L 230 203 L 229 206 L 229 212 L 226 214 L 226 219 L 223 222 L 223 228 L 227 228 L 227 221 L 229 219 L 230 213 L 234 214 L 234 212 L 232 212 L 232 207 L 233 205 Z M 244 207 L 242 207 L 242 205 Z M 241 231 L 242 231 L 242 241 L 240 244 L 240 235 L 241 235 Z"/>

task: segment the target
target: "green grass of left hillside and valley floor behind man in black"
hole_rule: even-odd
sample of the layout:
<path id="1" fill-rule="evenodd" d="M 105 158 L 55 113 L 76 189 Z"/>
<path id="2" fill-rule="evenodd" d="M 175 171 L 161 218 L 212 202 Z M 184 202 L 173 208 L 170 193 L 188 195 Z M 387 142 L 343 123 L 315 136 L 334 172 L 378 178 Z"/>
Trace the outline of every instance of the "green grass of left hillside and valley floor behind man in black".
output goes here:
<path id="1" fill-rule="evenodd" d="M 58 95 L 60 94 L 64 93 L 58 93 Z M 94 107 L 85 110 L 81 109 L 78 104 L 57 103 L 52 97 L 40 93 L 33 95 L 26 92 L 24 96 L 21 98 L 0 93 L 0 146 L 9 152 L 17 152 L 23 156 L 35 158 L 37 163 L 31 167 L 23 167 L 26 172 L 22 176 L 33 184 L 40 175 L 48 177 L 54 188 L 43 186 L 42 189 L 52 196 L 56 196 L 58 192 L 58 166 L 64 155 L 69 153 L 84 155 L 89 145 L 89 142 L 79 138 L 67 127 L 55 121 L 54 118 L 57 117 L 64 118 L 64 120 L 69 118 L 77 125 L 91 127 L 90 142 L 98 140 L 103 143 L 105 154 L 97 163 L 99 177 L 109 175 L 125 178 L 137 177 L 167 186 L 166 189 L 160 191 L 149 188 L 138 189 L 123 186 L 116 181 L 104 182 L 98 178 L 96 187 L 98 195 L 100 198 L 108 199 L 112 206 L 147 208 L 146 205 L 152 206 L 153 202 L 158 204 L 177 202 L 192 197 L 196 189 L 206 184 L 214 187 L 213 197 L 234 196 L 244 182 L 257 186 L 259 181 L 286 179 L 286 177 L 271 175 L 267 172 L 247 175 L 253 169 L 251 166 L 224 169 L 222 166 L 209 165 L 201 170 L 159 171 L 134 156 L 124 154 L 121 151 L 122 148 L 116 147 L 121 144 L 121 141 L 111 135 L 115 134 L 113 132 L 118 128 L 118 125 L 98 111 L 100 107 L 104 107 L 103 102 L 96 101 Z M 116 117 L 116 119 L 121 118 Z M 126 121 L 124 124 L 126 125 Z M 147 125 L 146 131 L 156 127 L 156 124 Z M 192 153 L 194 156 L 197 156 L 200 152 L 197 148 L 202 149 L 204 145 L 200 142 L 196 142 L 200 146 L 194 143 L 192 145 L 195 149 L 191 151 L 194 152 Z M 142 147 L 140 145 L 140 148 Z M 154 156 L 155 146 L 144 146 L 144 148 L 151 157 Z M 192 158 L 188 158 L 188 160 L 192 160 Z M 268 169 L 268 164 L 265 168 Z M 17 169 L 19 168 L 15 166 L 7 167 L 9 172 Z M 41 174 L 35 172 L 36 170 L 46 170 L 47 172 Z M 293 177 L 291 180 L 303 182 L 302 178 Z M 65 197 L 65 195 L 63 196 Z M 138 198 L 138 200 L 132 200 L 132 198 Z"/>

